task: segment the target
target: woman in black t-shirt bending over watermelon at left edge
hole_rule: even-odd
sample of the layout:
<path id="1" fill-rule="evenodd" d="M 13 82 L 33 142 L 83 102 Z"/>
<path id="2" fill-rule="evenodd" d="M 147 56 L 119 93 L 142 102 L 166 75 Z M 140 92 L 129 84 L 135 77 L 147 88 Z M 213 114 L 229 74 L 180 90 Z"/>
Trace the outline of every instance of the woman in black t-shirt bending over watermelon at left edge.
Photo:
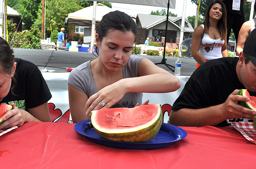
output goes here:
<path id="1" fill-rule="evenodd" d="M 8 42 L 0 37 L 0 103 L 12 105 L 0 129 L 21 126 L 29 121 L 51 121 L 50 90 L 38 67 L 14 58 Z"/>

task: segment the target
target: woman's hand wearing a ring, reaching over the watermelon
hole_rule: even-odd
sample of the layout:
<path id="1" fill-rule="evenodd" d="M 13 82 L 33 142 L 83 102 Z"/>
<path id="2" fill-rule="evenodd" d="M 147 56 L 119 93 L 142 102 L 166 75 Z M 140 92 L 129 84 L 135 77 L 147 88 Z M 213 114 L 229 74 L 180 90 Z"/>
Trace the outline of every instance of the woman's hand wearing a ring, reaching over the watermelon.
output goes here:
<path id="1" fill-rule="evenodd" d="M 88 108 L 86 115 L 89 115 L 92 110 L 109 108 L 117 103 L 120 99 L 122 99 L 124 94 L 126 94 L 124 85 L 123 79 L 121 79 L 116 83 L 102 88 L 102 90 L 89 97 L 85 104 L 85 108 Z M 90 105 L 90 103 L 92 104 Z"/>

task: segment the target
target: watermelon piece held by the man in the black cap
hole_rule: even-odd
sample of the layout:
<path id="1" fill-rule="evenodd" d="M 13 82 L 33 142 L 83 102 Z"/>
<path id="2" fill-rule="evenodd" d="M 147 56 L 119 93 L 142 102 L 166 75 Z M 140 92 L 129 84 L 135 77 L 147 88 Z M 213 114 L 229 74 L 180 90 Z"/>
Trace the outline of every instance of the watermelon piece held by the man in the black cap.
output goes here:
<path id="1" fill-rule="evenodd" d="M 243 107 L 247 107 L 247 108 L 250 108 L 250 109 L 256 111 L 256 97 L 255 96 L 250 96 L 247 89 L 241 89 L 237 92 L 237 94 L 250 98 L 250 101 L 239 101 L 240 105 L 242 105 Z M 254 120 L 253 120 L 253 127 L 256 130 L 256 116 L 254 117 Z"/>

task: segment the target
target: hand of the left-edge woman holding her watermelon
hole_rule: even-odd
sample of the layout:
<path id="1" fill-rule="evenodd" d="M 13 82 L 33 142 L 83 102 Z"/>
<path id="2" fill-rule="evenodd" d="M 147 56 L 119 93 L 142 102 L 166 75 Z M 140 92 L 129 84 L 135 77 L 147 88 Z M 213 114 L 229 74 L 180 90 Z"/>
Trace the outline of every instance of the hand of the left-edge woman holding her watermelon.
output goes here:
<path id="1" fill-rule="evenodd" d="M 13 126 L 22 126 L 28 117 L 28 112 L 15 107 L 14 103 L 10 104 L 13 109 L 4 115 L 4 123 L 0 125 L 0 129 L 7 129 Z"/>

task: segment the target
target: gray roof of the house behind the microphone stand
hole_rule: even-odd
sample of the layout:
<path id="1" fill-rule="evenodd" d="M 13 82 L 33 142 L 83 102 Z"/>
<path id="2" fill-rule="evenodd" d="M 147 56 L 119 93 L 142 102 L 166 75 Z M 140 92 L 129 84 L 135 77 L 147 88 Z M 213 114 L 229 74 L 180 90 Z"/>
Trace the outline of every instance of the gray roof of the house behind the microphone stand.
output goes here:
<path id="1" fill-rule="evenodd" d="M 147 15 L 147 14 L 138 14 L 136 17 L 136 20 L 139 20 L 141 27 L 143 29 L 150 29 L 153 26 L 156 26 L 162 22 L 165 22 L 167 17 L 162 15 Z M 168 21 L 171 22 L 171 24 L 177 26 L 177 28 L 181 29 L 180 24 L 176 24 L 175 22 L 178 20 L 181 20 L 182 17 L 168 17 Z M 188 25 L 188 27 L 184 28 L 185 32 L 194 32 L 194 29 L 192 28 L 191 24 L 188 22 L 188 19 L 185 18 L 185 22 Z M 181 21 L 180 21 L 181 23 Z"/>

